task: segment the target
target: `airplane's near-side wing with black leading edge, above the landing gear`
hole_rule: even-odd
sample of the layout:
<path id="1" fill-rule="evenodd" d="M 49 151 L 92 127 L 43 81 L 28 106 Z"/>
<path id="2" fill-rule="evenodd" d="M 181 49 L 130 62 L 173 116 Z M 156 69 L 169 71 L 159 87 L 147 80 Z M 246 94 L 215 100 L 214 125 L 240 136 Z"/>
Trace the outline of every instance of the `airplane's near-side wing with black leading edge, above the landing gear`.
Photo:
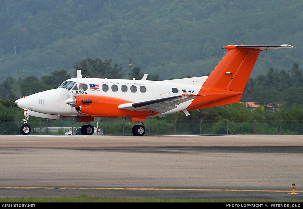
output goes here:
<path id="1" fill-rule="evenodd" d="M 182 94 L 180 96 L 155 99 L 150 101 L 126 103 L 118 106 L 119 109 L 132 110 L 132 111 L 157 111 L 164 113 L 176 108 L 175 105 L 180 105 L 185 101 L 200 97 L 194 94 Z"/>

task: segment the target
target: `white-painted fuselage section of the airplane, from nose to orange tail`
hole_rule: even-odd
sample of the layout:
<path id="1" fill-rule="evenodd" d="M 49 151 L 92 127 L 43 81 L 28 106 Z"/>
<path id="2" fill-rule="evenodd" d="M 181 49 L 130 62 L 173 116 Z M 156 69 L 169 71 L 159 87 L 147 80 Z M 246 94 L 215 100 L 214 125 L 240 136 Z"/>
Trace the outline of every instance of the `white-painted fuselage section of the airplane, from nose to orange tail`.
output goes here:
<path id="1" fill-rule="evenodd" d="M 197 94 L 206 78 L 207 76 L 167 81 L 147 81 L 76 77 L 65 81 L 69 82 L 70 85 L 65 87 L 61 85 L 56 89 L 32 94 L 17 100 L 16 103 L 24 110 L 36 113 L 59 116 L 82 116 L 83 114 L 75 111 L 74 107 L 65 103 L 68 98 L 77 95 L 92 94 L 121 98 L 130 102 L 149 101 L 186 93 Z M 182 111 L 191 104 L 191 101 L 176 105 L 177 108 L 157 116 Z M 40 117 L 37 114 L 33 116 Z M 41 117 L 48 118 L 45 115 Z"/>

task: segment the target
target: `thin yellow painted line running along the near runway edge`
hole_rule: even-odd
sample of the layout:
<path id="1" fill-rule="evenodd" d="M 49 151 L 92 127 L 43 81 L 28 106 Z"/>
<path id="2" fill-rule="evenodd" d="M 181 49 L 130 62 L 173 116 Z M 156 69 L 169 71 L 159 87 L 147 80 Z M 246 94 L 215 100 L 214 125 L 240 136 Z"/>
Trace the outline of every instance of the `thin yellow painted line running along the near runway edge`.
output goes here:
<path id="1" fill-rule="evenodd" d="M 166 191 L 228 191 L 228 192 L 292 192 L 291 190 L 235 190 L 235 189 L 165 189 L 165 188 L 115 188 L 115 187 L 0 187 L 0 189 L 82 189 L 82 190 L 166 190 Z M 303 192 L 303 190 L 296 190 Z"/>

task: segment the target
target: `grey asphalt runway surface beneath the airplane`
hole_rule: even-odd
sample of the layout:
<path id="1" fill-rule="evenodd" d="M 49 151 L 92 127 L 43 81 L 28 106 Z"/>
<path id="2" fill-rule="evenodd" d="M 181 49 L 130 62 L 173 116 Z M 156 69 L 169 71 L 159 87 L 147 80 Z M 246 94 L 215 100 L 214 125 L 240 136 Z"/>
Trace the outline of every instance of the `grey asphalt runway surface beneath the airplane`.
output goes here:
<path id="1" fill-rule="evenodd" d="M 0 196 L 299 199 L 302 135 L 0 135 Z"/>

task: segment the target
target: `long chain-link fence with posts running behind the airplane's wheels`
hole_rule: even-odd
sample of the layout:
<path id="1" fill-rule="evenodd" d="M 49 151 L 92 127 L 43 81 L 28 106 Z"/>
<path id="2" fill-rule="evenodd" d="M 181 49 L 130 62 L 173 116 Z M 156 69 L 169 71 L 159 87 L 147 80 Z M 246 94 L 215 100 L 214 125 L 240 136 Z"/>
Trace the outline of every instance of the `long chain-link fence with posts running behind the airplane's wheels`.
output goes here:
<path id="1" fill-rule="evenodd" d="M 85 123 L 47 120 L 31 122 L 31 135 L 64 135 Z M 20 121 L 0 122 L 0 134 L 20 135 Z M 92 123 L 97 127 L 97 123 Z M 104 135 L 132 135 L 135 122 L 116 120 L 99 122 L 98 128 L 103 129 Z M 150 121 L 144 122 L 145 135 L 159 134 L 303 134 L 302 121 Z"/>

